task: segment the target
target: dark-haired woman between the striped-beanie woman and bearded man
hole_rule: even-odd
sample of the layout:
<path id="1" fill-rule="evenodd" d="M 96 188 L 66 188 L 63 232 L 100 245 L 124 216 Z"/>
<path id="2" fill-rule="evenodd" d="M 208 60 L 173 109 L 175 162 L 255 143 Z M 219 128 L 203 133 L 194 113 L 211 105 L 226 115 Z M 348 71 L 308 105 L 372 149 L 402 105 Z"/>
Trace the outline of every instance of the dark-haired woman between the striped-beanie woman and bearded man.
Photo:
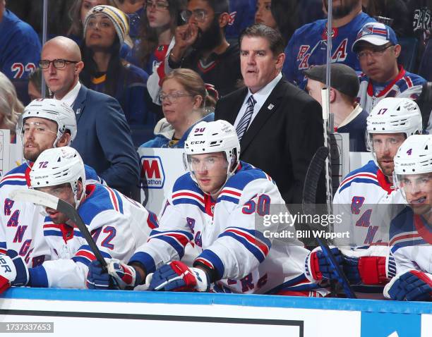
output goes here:
<path id="1" fill-rule="evenodd" d="M 126 59 L 143 68 L 149 75 L 155 71 L 167 55 L 179 21 L 179 13 L 186 8 L 186 2 L 147 0 L 138 44 Z"/>

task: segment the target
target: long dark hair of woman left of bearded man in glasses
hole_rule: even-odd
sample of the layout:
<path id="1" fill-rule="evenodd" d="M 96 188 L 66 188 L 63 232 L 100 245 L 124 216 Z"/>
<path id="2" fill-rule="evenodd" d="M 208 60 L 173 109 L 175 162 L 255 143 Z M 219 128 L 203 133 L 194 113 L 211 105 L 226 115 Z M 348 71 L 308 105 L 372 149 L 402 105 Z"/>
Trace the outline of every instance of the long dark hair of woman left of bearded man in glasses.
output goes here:
<path id="1" fill-rule="evenodd" d="M 186 8 L 186 0 L 167 0 L 168 1 L 168 11 L 171 18 L 171 23 L 169 25 L 169 30 L 171 30 L 172 35 L 177 27 L 177 21 L 179 19 L 180 11 Z M 139 32 L 140 42 L 138 44 L 138 54 L 141 68 L 145 68 L 148 61 L 150 60 L 152 54 L 155 52 L 157 44 L 159 43 L 159 37 L 157 35 L 157 30 L 150 27 L 148 23 L 147 13 L 143 13 L 141 16 L 140 32 Z"/>

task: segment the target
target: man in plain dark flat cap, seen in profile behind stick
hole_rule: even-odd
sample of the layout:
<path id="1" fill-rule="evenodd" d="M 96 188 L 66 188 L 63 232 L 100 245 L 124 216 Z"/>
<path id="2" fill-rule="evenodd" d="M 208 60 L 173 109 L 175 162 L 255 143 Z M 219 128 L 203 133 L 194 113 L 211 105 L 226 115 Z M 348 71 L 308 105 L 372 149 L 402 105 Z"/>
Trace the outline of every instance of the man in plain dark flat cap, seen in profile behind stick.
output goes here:
<path id="1" fill-rule="evenodd" d="M 335 117 L 335 131 L 349 133 L 349 151 L 366 152 L 366 118 L 368 112 L 356 102 L 359 78 L 345 64 L 331 64 L 330 111 Z M 325 87 L 326 66 L 316 66 L 304 71 L 308 78 L 306 91 L 323 105 L 321 89 Z"/>

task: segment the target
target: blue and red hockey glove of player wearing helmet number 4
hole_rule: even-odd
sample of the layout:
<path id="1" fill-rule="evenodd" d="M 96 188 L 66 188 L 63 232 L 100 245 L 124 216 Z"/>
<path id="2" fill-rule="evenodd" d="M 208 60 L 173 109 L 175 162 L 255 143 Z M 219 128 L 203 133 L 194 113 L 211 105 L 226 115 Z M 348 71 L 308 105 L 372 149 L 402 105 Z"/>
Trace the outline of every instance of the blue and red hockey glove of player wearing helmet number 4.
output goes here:
<path id="1" fill-rule="evenodd" d="M 384 296 L 399 301 L 431 301 L 432 275 L 415 269 L 399 274 L 385 286 Z"/>

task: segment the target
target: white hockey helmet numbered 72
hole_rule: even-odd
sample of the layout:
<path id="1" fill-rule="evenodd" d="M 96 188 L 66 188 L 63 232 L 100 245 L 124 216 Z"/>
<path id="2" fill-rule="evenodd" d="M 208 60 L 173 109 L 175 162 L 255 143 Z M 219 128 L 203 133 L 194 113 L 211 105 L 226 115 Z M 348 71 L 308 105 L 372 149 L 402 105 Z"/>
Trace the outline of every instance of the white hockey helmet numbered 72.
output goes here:
<path id="1" fill-rule="evenodd" d="M 84 196 L 78 199 L 78 181 L 85 191 L 85 169 L 83 159 L 73 147 L 53 147 L 42 152 L 30 171 L 30 188 L 71 184 L 76 208 Z"/>

